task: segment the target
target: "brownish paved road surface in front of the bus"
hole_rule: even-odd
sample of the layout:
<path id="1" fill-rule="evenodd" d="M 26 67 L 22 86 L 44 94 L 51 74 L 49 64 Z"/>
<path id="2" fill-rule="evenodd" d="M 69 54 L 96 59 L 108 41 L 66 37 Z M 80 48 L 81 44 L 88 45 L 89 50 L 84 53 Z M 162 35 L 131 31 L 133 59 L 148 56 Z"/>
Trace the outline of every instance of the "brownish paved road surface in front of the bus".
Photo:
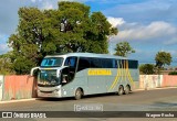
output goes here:
<path id="1" fill-rule="evenodd" d="M 135 91 L 129 95 L 116 96 L 111 95 L 96 95 L 87 96 L 81 100 L 73 100 L 73 98 L 64 99 L 37 99 L 32 101 L 20 101 L 12 103 L 0 103 L 1 111 L 73 111 L 74 105 L 76 106 L 102 106 L 104 111 L 177 111 L 177 88 L 157 89 Z M 113 112 L 115 113 L 115 112 Z M 126 113 L 121 113 L 122 117 Z M 114 116 L 114 114 L 113 114 Z M 110 116 L 107 116 L 110 117 Z M 0 119 L 1 120 L 1 119 Z M 7 119 L 6 119 L 7 120 Z M 12 119 L 22 121 L 24 119 Z M 25 119 L 43 121 L 43 119 Z M 45 121 L 51 119 L 45 119 Z M 52 119 L 59 121 L 59 119 Z M 64 121 L 177 121 L 177 119 L 153 119 L 153 118 L 60 118 Z M 8 121 L 8 120 L 7 120 Z"/>

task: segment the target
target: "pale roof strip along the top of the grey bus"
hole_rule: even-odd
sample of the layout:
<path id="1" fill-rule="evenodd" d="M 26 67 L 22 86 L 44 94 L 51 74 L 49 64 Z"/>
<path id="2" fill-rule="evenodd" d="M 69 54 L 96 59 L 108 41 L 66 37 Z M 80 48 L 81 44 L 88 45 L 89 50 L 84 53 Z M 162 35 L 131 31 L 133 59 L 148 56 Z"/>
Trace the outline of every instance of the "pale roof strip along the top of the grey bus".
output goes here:
<path id="1" fill-rule="evenodd" d="M 53 54 L 46 55 L 45 57 L 61 57 L 61 56 L 77 56 L 77 57 L 98 57 L 98 58 L 119 58 L 119 59 L 127 59 L 126 57 L 122 56 L 114 56 L 110 54 L 95 54 L 95 53 L 65 53 L 65 54 Z"/>

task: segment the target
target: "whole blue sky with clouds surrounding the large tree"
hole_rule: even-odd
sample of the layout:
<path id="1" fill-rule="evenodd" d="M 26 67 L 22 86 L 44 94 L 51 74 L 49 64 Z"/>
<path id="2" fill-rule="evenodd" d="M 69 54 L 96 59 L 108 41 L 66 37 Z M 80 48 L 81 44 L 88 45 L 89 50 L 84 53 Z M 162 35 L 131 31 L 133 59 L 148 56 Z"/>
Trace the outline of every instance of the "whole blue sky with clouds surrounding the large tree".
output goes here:
<path id="1" fill-rule="evenodd" d="M 15 33 L 20 7 L 58 9 L 64 0 L 1 0 L 0 1 L 0 54 L 10 48 L 8 37 Z M 177 0 L 67 0 L 91 7 L 91 12 L 101 11 L 107 21 L 118 29 L 110 36 L 108 50 L 114 54 L 116 43 L 127 41 L 136 53 L 131 58 L 139 63 L 155 63 L 155 55 L 165 51 L 171 54 L 177 66 Z"/>

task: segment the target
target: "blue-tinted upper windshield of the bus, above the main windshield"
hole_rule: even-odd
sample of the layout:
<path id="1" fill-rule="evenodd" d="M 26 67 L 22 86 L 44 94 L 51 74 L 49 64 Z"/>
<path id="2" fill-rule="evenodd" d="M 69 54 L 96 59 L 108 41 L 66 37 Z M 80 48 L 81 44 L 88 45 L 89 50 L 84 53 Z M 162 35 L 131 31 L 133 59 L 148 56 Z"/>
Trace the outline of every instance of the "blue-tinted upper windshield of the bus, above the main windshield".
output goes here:
<path id="1" fill-rule="evenodd" d="M 60 67 L 62 66 L 63 58 L 62 57 L 48 57 L 44 58 L 41 63 L 42 67 Z"/>

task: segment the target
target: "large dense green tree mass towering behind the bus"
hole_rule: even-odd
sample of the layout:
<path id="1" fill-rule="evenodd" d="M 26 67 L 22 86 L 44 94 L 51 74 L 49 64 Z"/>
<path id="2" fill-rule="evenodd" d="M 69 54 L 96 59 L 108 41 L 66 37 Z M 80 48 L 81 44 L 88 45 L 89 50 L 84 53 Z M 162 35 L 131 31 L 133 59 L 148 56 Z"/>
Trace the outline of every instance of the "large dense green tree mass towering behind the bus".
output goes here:
<path id="1" fill-rule="evenodd" d="M 58 10 L 20 8 L 17 32 L 9 37 L 17 74 L 29 74 L 46 54 L 65 52 L 108 53 L 107 36 L 117 34 L 104 14 L 90 7 L 62 1 Z"/>

